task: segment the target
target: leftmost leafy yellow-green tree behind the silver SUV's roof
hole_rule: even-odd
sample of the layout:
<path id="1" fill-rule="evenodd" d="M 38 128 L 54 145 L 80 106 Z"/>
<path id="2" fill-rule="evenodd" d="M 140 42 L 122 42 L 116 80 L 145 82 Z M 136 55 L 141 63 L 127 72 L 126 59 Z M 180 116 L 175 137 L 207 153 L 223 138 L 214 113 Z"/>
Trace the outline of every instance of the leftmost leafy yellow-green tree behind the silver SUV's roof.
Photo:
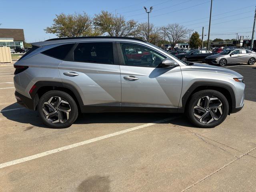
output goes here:
<path id="1" fill-rule="evenodd" d="M 52 26 L 44 30 L 58 37 L 91 36 L 96 32 L 92 29 L 91 18 L 85 12 L 83 14 L 56 14 Z M 100 34 L 97 32 L 97 35 Z"/>

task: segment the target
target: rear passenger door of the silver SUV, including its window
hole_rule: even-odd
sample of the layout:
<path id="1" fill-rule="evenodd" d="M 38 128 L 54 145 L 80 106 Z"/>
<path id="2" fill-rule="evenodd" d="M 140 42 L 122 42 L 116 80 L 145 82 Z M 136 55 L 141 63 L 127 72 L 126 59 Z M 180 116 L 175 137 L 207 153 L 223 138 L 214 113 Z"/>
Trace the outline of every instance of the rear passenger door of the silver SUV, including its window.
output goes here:
<path id="1" fill-rule="evenodd" d="M 120 67 L 114 42 L 81 42 L 59 66 L 63 83 L 78 90 L 84 105 L 120 109 Z"/>

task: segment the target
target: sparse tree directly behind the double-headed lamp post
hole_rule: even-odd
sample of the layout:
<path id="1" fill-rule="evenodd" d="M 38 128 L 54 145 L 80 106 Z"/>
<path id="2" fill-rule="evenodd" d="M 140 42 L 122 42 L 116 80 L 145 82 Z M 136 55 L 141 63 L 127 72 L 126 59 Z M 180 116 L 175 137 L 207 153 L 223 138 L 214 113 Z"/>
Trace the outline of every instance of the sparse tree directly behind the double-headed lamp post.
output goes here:
<path id="1" fill-rule="evenodd" d="M 136 30 L 136 37 L 144 41 L 148 41 L 148 23 L 140 23 Z M 162 40 L 162 33 L 159 27 L 155 27 L 154 24 L 149 25 L 149 43 L 156 44 Z"/>

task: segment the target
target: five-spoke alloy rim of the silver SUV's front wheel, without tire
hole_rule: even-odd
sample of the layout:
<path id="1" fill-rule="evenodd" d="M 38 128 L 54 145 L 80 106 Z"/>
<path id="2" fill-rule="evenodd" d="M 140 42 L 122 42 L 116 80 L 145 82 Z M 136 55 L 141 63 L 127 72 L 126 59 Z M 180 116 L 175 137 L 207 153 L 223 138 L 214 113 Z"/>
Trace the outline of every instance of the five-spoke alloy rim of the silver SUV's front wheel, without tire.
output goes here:
<path id="1" fill-rule="evenodd" d="M 194 116 L 198 121 L 209 124 L 222 116 L 222 102 L 215 96 L 204 96 L 194 106 Z"/>

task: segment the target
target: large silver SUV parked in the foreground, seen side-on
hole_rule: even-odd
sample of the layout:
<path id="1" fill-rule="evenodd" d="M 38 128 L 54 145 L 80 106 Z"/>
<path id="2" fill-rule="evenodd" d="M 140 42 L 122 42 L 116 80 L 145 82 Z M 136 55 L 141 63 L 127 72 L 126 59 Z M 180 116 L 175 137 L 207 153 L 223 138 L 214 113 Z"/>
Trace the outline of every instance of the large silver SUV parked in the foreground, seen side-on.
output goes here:
<path id="1" fill-rule="evenodd" d="M 242 75 L 182 62 L 136 38 L 36 42 L 14 67 L 17 102 L 52 128 L 69 127 L 79 112 L 186 112 L 210 128 L 244 105 Z"/>

